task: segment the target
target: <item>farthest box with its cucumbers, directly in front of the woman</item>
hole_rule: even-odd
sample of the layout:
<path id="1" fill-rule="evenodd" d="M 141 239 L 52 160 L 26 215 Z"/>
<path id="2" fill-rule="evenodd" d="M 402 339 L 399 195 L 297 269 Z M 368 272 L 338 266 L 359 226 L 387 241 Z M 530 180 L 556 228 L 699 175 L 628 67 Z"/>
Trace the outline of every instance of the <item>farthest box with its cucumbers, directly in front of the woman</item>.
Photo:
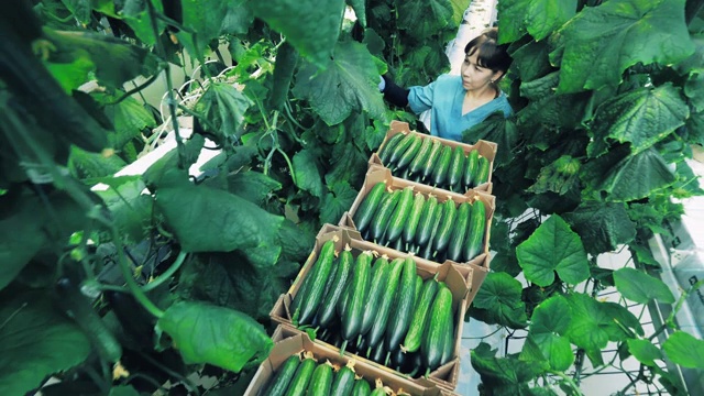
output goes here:
<path id="1" fill-rule="evenodd" d="M 491 193 L 496 143 L 473 145 L 410 131 L 408 123 L 392 121 L 386 139 L 370 165 L 382 165 L 396 177 L 464 194 Z"/>

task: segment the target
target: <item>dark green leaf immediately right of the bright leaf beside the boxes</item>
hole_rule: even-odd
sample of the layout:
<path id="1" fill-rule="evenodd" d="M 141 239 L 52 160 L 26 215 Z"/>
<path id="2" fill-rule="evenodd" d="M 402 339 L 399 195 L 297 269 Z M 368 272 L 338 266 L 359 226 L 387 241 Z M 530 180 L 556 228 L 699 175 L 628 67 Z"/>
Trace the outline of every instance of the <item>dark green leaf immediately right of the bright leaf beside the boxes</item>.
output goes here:
<path id="1" fill-rule="evenodd" d="M 586 252 L 596 255 L 627 244 L 636 237 L 636 228 L 626 206 L 616 202 L 583 201 L 565 220 L 582 238 Z"/>

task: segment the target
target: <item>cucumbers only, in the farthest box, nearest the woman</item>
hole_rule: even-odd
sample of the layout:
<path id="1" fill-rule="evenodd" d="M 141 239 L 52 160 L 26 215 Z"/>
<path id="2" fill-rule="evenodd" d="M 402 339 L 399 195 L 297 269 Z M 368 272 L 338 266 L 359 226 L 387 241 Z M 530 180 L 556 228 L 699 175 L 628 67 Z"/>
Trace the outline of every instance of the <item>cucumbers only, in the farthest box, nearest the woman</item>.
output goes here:
<path id="1" fill-rule="evenodd" d="M 419 133 L 397 133 L 378 152 L 382 164 L 396 177 L 450 191 L 464 193 L 488 182 L 490 161 L 473 150 L 464 154 Z"/>

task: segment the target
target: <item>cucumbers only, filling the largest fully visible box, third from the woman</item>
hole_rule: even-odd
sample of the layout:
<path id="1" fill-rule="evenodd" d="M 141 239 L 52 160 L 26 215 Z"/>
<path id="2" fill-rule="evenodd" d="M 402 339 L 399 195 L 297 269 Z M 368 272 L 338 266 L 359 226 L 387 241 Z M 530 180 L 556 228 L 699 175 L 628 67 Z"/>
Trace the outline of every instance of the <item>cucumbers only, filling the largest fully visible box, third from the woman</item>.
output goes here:
<path id="1" fill-rule="evenodd" d="M 373 262 L 373 263 L 372 263 Z M 334 257 L 333 240 L 304 279 L 290 306 L 297 327 L 317 329 L 322 341 L 410 376 L 428 374 L 453 358 L 452 293 L 424 279 L 411 257 Z"/>

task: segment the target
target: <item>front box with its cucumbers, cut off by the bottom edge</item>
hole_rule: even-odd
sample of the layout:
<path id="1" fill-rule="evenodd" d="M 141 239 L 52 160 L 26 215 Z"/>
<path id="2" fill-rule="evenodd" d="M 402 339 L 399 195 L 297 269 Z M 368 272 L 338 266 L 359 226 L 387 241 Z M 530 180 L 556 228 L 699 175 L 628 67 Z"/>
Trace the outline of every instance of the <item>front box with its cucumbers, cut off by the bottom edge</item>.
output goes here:
<path id="1" fill-rule="evenodd" d="M 278 327 L 270 356 L 257 369 L 245 396 L 409 395 L 455 396 L 435 384 L 424 386 L 310 340 L 307 333 Z"/>

